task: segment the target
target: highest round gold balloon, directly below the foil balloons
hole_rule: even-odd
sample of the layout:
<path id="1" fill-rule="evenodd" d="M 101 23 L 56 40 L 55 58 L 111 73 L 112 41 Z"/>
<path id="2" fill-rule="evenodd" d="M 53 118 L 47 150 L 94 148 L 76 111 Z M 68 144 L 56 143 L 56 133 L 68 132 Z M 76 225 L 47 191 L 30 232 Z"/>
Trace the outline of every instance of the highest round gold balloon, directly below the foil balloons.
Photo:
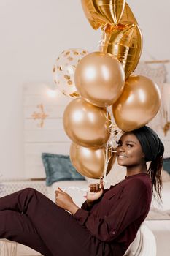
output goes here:
<path id="1" fill-rule="evenodd" d="M 98 107 L 112 105 L 123 91 L 125 72 L 120 61 L 109 53 L 89 53 L 81 59 L 74 74 L 80 95 Z"/>

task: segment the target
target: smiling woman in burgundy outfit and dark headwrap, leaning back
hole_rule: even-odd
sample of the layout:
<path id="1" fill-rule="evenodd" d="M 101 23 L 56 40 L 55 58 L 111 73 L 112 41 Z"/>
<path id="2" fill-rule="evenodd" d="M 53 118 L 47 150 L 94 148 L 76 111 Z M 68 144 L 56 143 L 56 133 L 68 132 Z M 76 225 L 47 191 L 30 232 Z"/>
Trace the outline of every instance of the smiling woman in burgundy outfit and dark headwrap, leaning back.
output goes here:
<path id="1" fill-rule="evenodd" d="M 149 127 L 125 132 L 117 146 L 125 179 L 109 189 L 102 178 L 90 185 L 81 208 L 60 188 L 55 203 L 30 188 L 1 197 L 0 237 L 47 256 L 123 256 L 147 217 L 152 190 L 161 197 L 163 151 Z"/>

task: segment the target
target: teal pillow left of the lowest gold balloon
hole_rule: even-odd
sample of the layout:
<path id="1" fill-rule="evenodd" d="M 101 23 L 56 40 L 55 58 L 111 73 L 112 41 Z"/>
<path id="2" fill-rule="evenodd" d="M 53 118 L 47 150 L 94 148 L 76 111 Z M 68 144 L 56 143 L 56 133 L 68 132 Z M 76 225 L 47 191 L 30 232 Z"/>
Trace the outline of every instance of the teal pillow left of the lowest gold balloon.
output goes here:
<path id="1" fill-rule="evenodd" d="M 55 181 L 85 180 L 85 178 L 73 167 L 69 156 L 42 153 L 42 162 L 45 167 L 47 186 L 52 185 Z"/>

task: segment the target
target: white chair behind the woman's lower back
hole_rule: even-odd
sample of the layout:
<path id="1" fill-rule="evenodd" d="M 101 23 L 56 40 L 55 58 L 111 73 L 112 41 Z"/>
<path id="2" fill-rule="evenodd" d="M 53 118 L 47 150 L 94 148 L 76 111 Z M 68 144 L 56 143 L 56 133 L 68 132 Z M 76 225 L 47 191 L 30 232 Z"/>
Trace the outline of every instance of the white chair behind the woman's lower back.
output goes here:
<path id="1" fill-rule="evenodd" d="M 142 223 L 136 238 L 130 244 L 124 256 L 156 256 L 156 241 L 152 231 Z"/>

